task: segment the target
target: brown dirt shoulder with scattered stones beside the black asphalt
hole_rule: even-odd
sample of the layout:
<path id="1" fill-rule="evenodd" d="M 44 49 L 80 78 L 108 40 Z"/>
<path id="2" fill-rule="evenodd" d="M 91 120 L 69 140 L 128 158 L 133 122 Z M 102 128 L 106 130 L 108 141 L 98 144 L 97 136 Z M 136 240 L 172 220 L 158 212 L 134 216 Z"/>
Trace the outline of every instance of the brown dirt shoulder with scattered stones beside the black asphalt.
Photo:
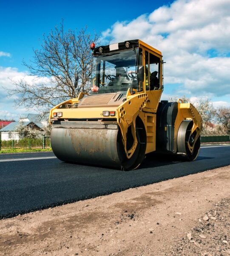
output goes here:
<path id="1" fill-rule="evenodd" d="M 0 255 L 230 255 L 230 166 L 0 221 Z"/>

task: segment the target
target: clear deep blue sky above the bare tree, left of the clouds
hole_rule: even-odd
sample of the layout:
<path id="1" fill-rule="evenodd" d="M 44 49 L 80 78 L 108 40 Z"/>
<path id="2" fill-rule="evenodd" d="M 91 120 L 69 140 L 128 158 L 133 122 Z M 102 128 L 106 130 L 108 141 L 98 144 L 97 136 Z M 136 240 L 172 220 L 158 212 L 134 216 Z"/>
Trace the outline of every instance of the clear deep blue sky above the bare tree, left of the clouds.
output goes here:
<path id="1" fill-rule="evenodd" d="M 108 6 L 108 1 L 0 0 L 0 51 L 11 54 L 11 58 L 0 59 L 0 66 L 24 71 L 22 59 L 33 58 L 32 48 L 39 48 L 43 34 L 48 34 L 62 19 L 65 29 L 88 26 L 90 32 L 99 33 L 116 21 L 132 20 L 170 2 L 173 1 L 147 0 L 142 5 L 139 1 L 115 1 Z"/>

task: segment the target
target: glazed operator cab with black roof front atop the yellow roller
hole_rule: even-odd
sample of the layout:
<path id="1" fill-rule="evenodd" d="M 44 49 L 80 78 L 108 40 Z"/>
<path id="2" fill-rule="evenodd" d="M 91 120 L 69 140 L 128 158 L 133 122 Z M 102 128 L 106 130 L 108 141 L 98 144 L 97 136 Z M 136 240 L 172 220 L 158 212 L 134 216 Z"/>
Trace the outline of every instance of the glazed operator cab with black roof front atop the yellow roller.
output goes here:
<path id="1" fill-rule="evenodd" d="M 161 89 L 162 56 L 156 49 L 157 54 L 153 54 L 152 49 L 139 40 L 94 48 L 91 93 Z"/>

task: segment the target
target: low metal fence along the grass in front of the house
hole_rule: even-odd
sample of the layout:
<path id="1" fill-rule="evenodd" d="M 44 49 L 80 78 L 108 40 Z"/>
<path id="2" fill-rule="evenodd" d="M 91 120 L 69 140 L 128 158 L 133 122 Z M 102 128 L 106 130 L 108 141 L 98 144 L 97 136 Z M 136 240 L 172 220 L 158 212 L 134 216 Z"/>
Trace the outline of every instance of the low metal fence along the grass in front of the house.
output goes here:
<path id="1" fill-rule="evenodd" d="M 49 134 L 33 134 L 32 137 L 26 137 L 25 134 L 0 132 L 0 150 L 11 149 L 49 149 Z"/>

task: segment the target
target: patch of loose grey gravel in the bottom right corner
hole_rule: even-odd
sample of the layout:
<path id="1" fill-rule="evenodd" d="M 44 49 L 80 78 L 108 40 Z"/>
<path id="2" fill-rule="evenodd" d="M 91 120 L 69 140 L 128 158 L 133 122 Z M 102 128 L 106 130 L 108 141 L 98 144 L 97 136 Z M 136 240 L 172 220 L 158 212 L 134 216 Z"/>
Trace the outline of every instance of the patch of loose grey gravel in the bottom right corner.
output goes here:
<path id="1" fill-rule="evenodd" d="M 230 198 L 222 199 L 200 216 L 196 227 L 176 241 L 166 255 L 230 255 Z"/>

